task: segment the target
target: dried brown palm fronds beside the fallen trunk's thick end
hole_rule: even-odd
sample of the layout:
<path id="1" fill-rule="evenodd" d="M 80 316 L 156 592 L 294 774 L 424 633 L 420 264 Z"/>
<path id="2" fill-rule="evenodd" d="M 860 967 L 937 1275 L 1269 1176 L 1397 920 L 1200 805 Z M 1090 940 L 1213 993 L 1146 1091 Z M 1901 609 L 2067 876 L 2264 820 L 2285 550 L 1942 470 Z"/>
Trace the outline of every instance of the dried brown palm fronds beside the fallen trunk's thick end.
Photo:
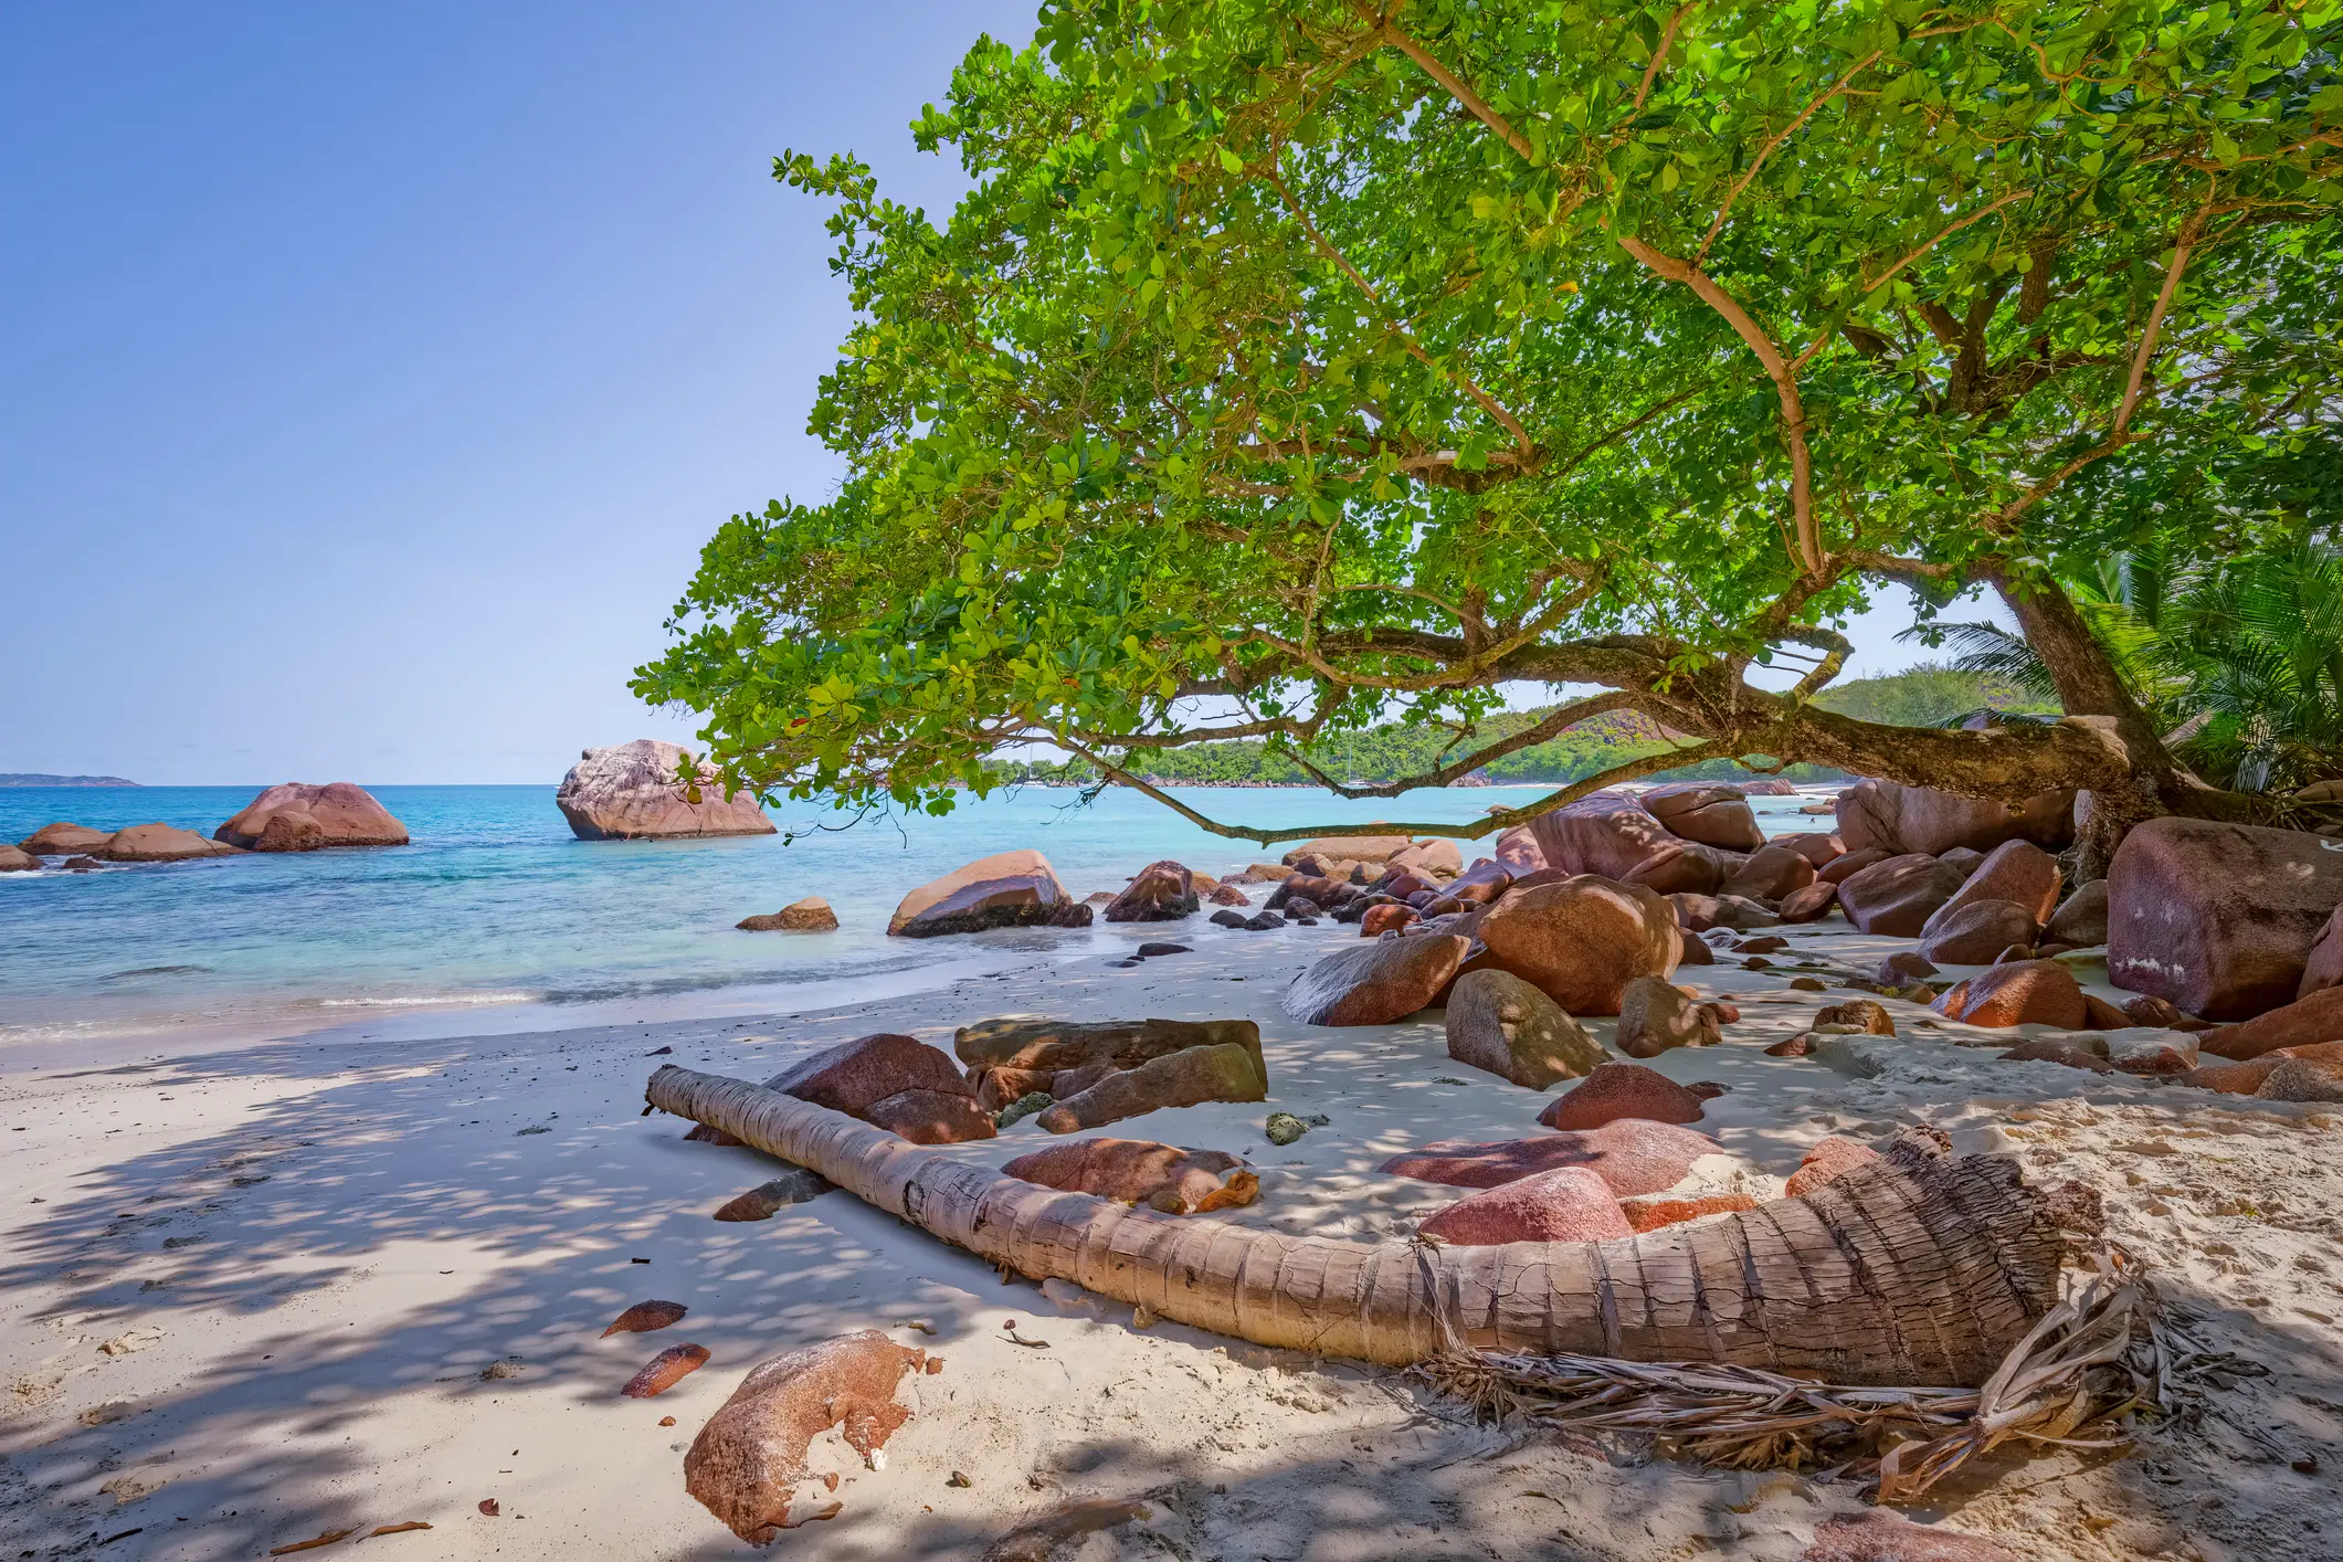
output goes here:
<path id="1" fill-rule="evenodd" d="M 1856 1389 L 1755 1368 L 1453 1349 L 1413 1368 L 1488 1419 L 1642 1433 L 1729 1468 L 1839 1468 L 1910 1501 L 2013 1438 L 2120 1447 L 2163 1403 L 2153 1297 L 2120 1255 L 2071 1288 L 1977 1389 Z M 2076 1433 L 2092 1431 L 2090 1438 Z"/>

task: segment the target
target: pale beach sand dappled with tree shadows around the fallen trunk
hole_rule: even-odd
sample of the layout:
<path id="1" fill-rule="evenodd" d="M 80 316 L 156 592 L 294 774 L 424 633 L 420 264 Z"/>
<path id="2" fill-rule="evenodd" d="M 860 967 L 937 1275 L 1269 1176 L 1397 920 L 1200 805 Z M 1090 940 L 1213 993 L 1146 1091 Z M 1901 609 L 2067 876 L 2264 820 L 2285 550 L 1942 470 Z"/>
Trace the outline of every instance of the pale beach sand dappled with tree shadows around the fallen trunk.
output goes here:
<path id="1" fill-rule="evenodd" d="M 710 1213 L 773 1164 L 637 1115 L 654 1047 L 764 1077 L 804 1047 L 881 1028 L 949 1047 L 954 1026 L 993 1014 L 1162 1014 L 1263 1023 L 1270 1101 L 1108 1129 L 1246 1155 L 1261 1201 L 1235 1220 L 1408 1234 L 1455 1192 L 1378 1162 L 1439 1138 L 1539 1133 L 1549 1096 L 1453 1063 L 1436 1016 L 1319 1030 L 1279 1014 L 1284 981 L 1350 944 L 1350 927 L 1244 934 L 1197 918 L 1176 932 L 1195 953 L 1136 970 L 1031 958 L 804 1016 L 323 1035 L 82 1070 L 0 1061 L 0 1560 L 255 1557 L 330 1529 L 356 1534 L 319 1555 L 747 1555 L 684 1496 L 682 1450 L 752 1363 L 853 1328 L 947 1365 L 907 1379 L 916 1414 L 886 1468 L 865 1471 L 834 1433 L 815 1443 L 815 1468 L 841 1473 L 843 1513 L 776 1553 L 977 1557 L 1061 1501 L 1111 1496 L 1146 1501 L 1148 1518 L 1059 1557 L 1790 1560 L 1821 1520 L 1860 1506 L 1844 1485 L 1699 1471 L 1631 1440 L 1474 1426 L 1350 1363 L 1164 1323 L 1139 1333 L 1127 1307 L 1003 1283 L 843 1192 L 722 1225 Z M 1701 1124 L 1724 1155 L 1692 1183 L 1764 1197 L 1823 1133 L 1942 1126 L 1961 1150 L 2099 1187 L 2188 1363 L 2184 1414 L 2132 1457 L 1994 1459 L 1914 1518 L 2020 1557 L 2343 1555 L 2343 1119 L 1996 1063 L 1959 1042 L 2013 1033 L 1903 1002 L 1888 1002 L 1903 1037 L 1858 1042 L 1846 1073 L 1767 1059 L 1839 998 L 1788 991 L 1792 960 L 1867 970 L 1907 946 L 1837 920 L 1783 932 L 1776 970 L 1724 955 L 1682 972 L 1743 1007 L 1724 1044 L 1657 1061 L 1729 1087 Z M 1607 1040 L 1610 1021 L 1591 1030 Z M 1275 1147 L 1272 1110 L 1331 1124 Z M 1019 1124 L 951 1155 L 1000 1164 L 1040 1143 Z M 600 1337 L 654 1297 L 691 1311 L 656 1335 Z M 1047 1349 L 1015 1344 L 1012 1318 Z M 670 1344 L 712 1361 L 661 1398 L 621 1398 Z M 956 1471 L 965 1487 L 949 1485 Z M 480 1515 L 483 1499 L 501 1515 Z M 361 1539 L 401 1522 L 431 1529 Z"/>

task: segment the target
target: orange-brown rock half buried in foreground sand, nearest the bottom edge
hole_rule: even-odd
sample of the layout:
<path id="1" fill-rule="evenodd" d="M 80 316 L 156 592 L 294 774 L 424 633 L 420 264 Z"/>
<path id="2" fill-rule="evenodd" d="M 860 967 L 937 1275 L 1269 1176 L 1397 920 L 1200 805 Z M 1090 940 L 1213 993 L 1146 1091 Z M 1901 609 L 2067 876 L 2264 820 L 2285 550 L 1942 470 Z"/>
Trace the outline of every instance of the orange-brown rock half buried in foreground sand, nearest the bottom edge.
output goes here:
<path id="1" fill-rule="evenodd" d="M 879 1450 L 911 1419 L 895 1403 L 895 1386 L 925 1361 L 925 1351 L 867 1328 L 757 1363 L 691 1440 L 684 1492 L 750 1546 L 834 1515 L 834 1501 L 792 1510 L 797 1487 L 815 1480 L 806 1445 L 836 1426 L 846 1445 L 879 1468 Z"/>

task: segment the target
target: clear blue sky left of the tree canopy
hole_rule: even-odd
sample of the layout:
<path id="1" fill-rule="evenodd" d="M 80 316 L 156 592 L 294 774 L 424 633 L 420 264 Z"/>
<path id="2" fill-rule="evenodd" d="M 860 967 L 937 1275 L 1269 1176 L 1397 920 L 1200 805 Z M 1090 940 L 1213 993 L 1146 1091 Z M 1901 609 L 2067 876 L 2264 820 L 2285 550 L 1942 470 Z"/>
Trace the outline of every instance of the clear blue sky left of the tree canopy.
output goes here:
<path id="1" fill-rule="evenodd" d="M 551 782 L 686 740 L 628 670 L 724 515 L 836 473 L 843 293 L 771 159 L 949 204 L 904 124 L 1031 23 L 0 9 L 0 770 Z"/>

